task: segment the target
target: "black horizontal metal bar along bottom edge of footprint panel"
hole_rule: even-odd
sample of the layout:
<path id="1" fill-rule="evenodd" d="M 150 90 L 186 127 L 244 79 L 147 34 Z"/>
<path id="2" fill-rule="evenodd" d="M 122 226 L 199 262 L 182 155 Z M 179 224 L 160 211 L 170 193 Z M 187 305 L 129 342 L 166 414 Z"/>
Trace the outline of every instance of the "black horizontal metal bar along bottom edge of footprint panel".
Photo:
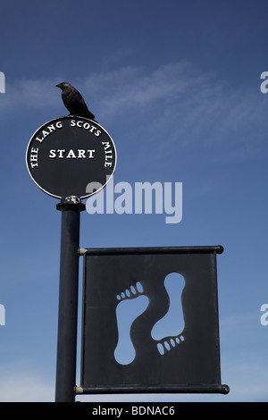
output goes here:
<path id="1" fill-rule="evenodd" d="M 177 385 L 167 385 L 166 387 L 154 387 L 154 386 L 116 386 L 116 387 L 90 387 L 90 388 L 83 388 L 78 386 L 75 388 L 75 393 L 77 395 L 81 394 L 228 394 L 230 388 L 228 385 L 222 384 L 211 384 L 211 385 L 184 385 L 184 386 L 177 386 Z"/>

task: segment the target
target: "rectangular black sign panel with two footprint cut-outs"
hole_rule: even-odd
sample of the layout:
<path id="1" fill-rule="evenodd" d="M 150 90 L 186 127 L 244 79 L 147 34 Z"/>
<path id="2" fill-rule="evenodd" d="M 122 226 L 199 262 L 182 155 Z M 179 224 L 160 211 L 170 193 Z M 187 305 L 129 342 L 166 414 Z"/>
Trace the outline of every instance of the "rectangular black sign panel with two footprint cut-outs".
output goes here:
<path id="1" fill-rule="evenodd" d="M 77 393 L 227 393 L 216 273 L 222 251 L 87 249 Z"/>

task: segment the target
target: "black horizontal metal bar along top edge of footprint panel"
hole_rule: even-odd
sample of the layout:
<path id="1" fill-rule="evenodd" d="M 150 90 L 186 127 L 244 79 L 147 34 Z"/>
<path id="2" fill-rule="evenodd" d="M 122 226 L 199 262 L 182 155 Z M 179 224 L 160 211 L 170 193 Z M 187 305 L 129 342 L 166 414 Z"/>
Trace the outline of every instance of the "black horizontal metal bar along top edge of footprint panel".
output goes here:
<path id="1" fill-rule="evenodd" d="M 222 254 L 222 245 L 204 247 L 80 248 L 80 256 L 140 254 Z"/>

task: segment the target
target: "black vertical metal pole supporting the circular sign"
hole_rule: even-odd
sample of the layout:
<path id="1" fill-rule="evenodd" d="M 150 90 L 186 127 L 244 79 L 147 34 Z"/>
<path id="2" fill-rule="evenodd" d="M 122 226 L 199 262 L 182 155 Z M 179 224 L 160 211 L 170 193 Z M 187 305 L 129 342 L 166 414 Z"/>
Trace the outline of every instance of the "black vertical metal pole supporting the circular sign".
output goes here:
<path id="1" fill-rule="evenodd" d="M 85 209 L 85 205 L 78 197 L 66 197 L 56 208 L 62 212 L 62 232 L 55 402 L 74 402 L 80 212 Z"/>

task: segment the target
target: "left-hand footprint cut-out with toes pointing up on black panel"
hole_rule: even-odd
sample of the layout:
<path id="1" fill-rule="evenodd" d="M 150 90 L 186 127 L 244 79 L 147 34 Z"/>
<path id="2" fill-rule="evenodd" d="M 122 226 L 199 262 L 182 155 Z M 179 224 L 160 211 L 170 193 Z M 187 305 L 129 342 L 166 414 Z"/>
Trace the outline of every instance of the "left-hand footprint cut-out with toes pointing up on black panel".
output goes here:
<path id="1" fill-rule="evenodd" d="M 141 315 L 148 306 L 149 299 L 141 295 L 143 287 L 138 281 L 135 286 L 124 290 L 117 295 L 119 304 L 116 307 L 118 327 L 118 343 L 114 350 L 114 358 L 121 365 L 130 365 L 136 356 L 136 350 L 130 337 L 130 328 L 133 321 Z"/>

